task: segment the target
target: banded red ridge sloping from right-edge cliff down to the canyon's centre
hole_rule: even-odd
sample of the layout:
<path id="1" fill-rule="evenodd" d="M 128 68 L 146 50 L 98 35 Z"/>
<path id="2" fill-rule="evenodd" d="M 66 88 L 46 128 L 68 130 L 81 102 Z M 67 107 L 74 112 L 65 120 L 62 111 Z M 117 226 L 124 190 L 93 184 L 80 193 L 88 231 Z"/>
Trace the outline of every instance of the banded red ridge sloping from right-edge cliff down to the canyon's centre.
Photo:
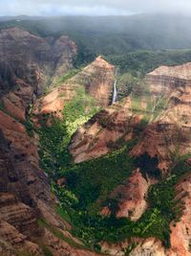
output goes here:
<path id="1" fill-rule="evenodd" d="M 115 144 L 120 138 L 132 139 L 135 133 L 134 129 L 141 121 L 146 120 L 149 124 L 144 131 L 145 144 L 140 143 L 135 150 L 138 151 L 138 155 L 147 151 L 151 156 L 158 155 L 159 159 L 162 159 L 167 157 L 167 149 L 175 150 L 176 144 L 179 145 L 181 153 L 186 153 L 186 148 L 189 151 L 190 68 L 190 63 L 172 67 L 161 66 L 147 74 L 145 83 L 142 85 L 143 91 L 137 92 L 140 95 L 133 92 L 132 96 L 124 99 L 121 103 L 99 112 L 74 134 L 70 146 L 74 160 L 78 162 L 80 154 L 85 155 L 86 160 L 90 159 L 89 154 L 91 155 L 91 153 L 95 157 L 96 149 L 98 156 L 102 154 L 101 151 L 108 152 L 110 145 Z M 135 101 L 138 102 L 135 103 Z M 98 137 L 93 136 L 93 129 Z M 166 132 L 169 133 L 165 134 Z M 182 144 L 179 141 L 179 133 L 181 133 Z M 173 137 L 176 137 L 177 134 L 177 140 L 170 139 L 171 134 Z M 166 138 L 168 138 L 168 142 L 165 141 Z M 83 140 L 86 141 L 87 147 L 84 147 Z M 159 147 L 156 145 L 157 142 L 159 142 Z M 83 147 L 80 151 L 78 144 L 81 143 Z"/>

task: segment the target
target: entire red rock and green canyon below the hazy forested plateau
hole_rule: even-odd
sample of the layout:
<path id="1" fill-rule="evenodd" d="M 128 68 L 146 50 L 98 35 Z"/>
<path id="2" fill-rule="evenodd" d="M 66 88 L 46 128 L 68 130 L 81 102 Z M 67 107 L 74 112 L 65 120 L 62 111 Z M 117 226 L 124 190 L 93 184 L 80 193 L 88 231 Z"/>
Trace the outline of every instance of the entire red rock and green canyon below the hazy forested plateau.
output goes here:
<path id="1" fill-rule="evenodd" d="M 139 18 L 153 20 L 108 17 L 108 26 Z M 77 28 L 88 18 L 64 19 Z M 156 68 L 168 51 L 131 53 L 121 73 L 102 56 L 76 66 L 82 48 L 73 36 L 22 22 L 41 31 L 0 31 L 0 251 L 190 255 L 187 51 L 171 53 L 185 62 L 173 66 Z M 151 56 L 158 59 L 145 64 Z"/>

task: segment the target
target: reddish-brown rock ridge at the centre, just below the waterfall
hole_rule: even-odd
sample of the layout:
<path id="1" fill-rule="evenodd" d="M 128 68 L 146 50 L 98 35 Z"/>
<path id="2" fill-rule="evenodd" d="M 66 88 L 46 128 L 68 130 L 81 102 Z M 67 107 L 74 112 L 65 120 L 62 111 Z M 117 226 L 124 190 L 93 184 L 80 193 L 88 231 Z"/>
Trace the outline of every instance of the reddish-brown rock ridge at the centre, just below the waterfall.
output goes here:
<path id="1" fill-rule="evenodd" d="M 74 133 L 69 147 L 74 162 L 79 163 L 114 150 L 113 144 L 121 138 L 131 140 L 140 119 L 131 111 L 130 98 L 100 111 Z"/>

